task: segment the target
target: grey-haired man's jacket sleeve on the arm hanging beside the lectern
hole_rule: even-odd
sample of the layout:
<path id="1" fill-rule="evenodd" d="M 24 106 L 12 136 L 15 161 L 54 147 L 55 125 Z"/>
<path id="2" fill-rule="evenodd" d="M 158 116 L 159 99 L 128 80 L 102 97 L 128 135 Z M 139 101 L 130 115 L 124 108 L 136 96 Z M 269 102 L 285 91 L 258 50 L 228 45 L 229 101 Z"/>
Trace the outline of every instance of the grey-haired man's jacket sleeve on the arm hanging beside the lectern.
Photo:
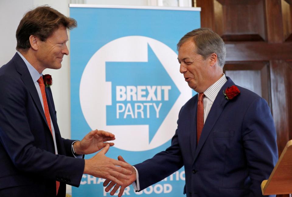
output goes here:
<path id="1" fill-rule="evenodd" d="M 262 196 L 260 185 L 273 171 L 278 150 L 273 117 L 268 104 L 261 97 L 255 99 L 246 111 L 242 139 L 252 182 L 252 197 Z"/>

